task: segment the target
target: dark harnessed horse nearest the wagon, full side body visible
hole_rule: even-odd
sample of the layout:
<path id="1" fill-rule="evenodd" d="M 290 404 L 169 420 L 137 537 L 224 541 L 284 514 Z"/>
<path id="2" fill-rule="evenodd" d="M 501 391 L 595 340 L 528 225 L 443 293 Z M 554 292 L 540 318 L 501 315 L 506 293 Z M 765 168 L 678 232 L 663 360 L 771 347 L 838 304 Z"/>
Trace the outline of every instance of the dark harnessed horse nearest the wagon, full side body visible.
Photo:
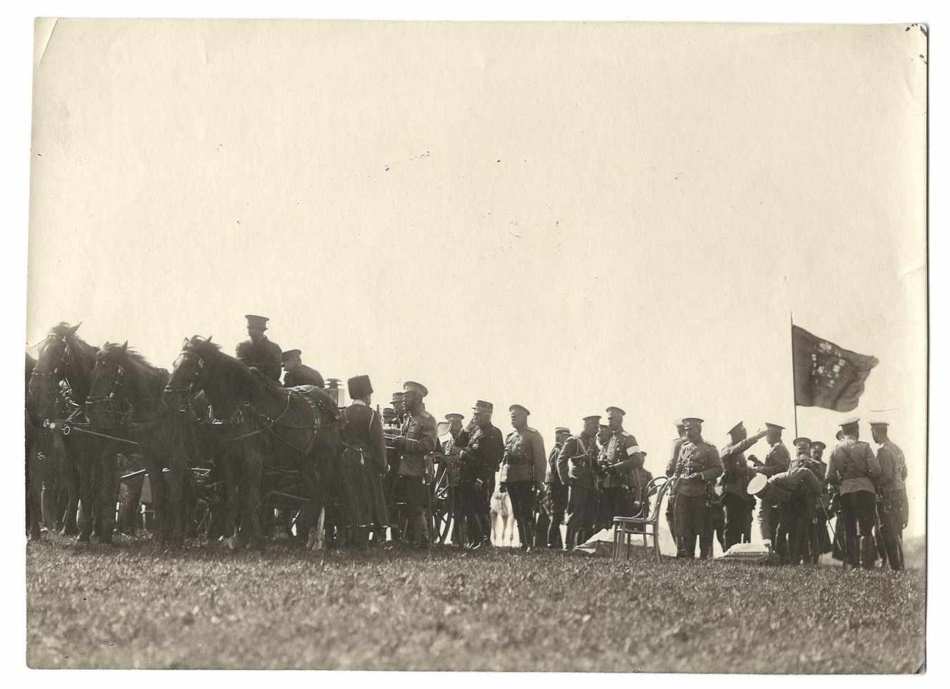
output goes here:
<path id="1" fill-rule="evenodd" d="M 304 386 L 281 387 L 259 371 L 224 354 L 211 339 L 197 335 L 185 340 L 175 362 L 171 381 L 165 389 L 169 405 L 180 407 L 182 400 L 203 390 L 214 416 L 226 426 L 223 443 L 240 443 L 241 452 L 231 453 L 232 464 L 241 464 L 240 486 L 235 467 L 225 468 L 228 504 L 234 526 L 231 542 L 262 548 L 263 538 L 257 516 L 260 485 L 265 462 L 276 467 L 293 467 L 299 472 L 307 502 L 297 522 L 306 534 L 307 547 L 322 547 L 322 532 L 314 529 L 322 512 L 324 485 L 320 480 L 329 471 L 340 442 L 339 410 L 323 390 Z M 236 515 L 240 502 L 239 529 Z"/>

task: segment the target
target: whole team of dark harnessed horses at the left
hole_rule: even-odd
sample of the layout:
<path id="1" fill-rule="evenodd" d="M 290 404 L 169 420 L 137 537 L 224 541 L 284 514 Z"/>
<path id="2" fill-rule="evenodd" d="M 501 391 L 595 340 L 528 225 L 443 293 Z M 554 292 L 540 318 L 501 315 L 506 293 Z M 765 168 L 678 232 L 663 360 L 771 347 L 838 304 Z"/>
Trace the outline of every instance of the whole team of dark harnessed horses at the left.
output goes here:
<path id="1" fill-rule="evenodd" d="M 79 326 L 54 326 L 27 354 L 28 537 L 41 537 L 42 476 L 60 457 L 64 532 L 108 543 L 115 525 L 120 452 L 142 457 L 153 493 L 155 537 L 180 543 L 194 530 L 194 472 L 223 483 L 218 529 L 232 548 L 263 548 L 260 506 L 295 508 L 296 537 L 323 548 L 329 473 L 340 413 L 326 391 L 285 388 L 211 341 L 185 339 L 171 373 L 128 346 L 95 347 Z M 44 465 L 44 462 L 47 464 Z M 279 490 L 278 490 L 279 489 Z"/>

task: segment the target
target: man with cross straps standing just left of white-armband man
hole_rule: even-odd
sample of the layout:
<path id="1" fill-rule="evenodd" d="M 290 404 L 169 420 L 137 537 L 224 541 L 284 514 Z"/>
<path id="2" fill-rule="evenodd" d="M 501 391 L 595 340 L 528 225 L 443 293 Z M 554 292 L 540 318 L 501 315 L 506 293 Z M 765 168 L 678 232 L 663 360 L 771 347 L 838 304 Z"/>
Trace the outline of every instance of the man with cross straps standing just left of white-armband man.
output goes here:
<path id="1" fill-rule="evenodd" d="M 597 463 L 597 435 L 600 417 L 584 417 L 580 435 L 564 441 L 558 455 L 558 476 L 567 486 L 567 536 L 564 548 L 573 550 L 594 531 L 597 495 L 594 467 Z"/>

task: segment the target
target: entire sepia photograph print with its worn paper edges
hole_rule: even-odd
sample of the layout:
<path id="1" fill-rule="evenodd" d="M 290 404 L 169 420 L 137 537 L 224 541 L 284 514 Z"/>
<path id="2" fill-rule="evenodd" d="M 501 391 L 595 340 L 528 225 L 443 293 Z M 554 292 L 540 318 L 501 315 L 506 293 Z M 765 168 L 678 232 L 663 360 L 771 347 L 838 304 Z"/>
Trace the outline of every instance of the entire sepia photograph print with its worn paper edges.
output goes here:
<path id="1" fill-rule="evenodd" d="M 926 23 L 33 28 L 29 668 L 926 671 Z"/>

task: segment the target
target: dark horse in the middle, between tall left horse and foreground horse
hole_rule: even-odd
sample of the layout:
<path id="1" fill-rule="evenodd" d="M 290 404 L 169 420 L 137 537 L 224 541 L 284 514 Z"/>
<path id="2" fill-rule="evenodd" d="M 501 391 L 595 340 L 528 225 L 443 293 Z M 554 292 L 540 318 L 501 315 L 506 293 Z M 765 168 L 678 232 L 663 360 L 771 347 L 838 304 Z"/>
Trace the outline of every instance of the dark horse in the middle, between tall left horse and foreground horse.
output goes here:
<path id="1" fill-rule="evenodd" d="M 128 343 L 105 343 L 92 370 L 85 415 L 95 431 L 110 434 L 124 428 L 137 443 L 152 487 L 155 533 L 162 541 L 170 537 L 180 542 L 190 512 L 185 493 L 190 460 L 197 454 L 192 445 L 197 424 L 194 417 L 173 413 L 162 400 L 168 378 L 168 371 L 148 363 Z M 103 481 L 116 486 L 115 463 L 102 469 Z"/>

